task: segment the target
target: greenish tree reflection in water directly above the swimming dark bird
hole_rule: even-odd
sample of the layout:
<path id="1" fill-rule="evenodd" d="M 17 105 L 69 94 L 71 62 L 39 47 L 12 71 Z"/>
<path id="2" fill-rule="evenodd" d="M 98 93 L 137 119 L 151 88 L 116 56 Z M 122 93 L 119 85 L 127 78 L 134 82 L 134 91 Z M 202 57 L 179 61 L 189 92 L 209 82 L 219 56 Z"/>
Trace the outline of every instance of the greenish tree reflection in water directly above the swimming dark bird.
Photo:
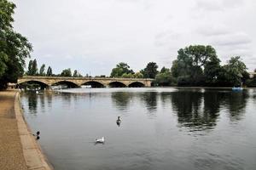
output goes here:
<path id="1" fill-rule="evenodd" d="M 128 92 L 114 92 L 111 94 L 111 98 L 119 111 L 125 111 L 130 104 L 132 96 Z"/>

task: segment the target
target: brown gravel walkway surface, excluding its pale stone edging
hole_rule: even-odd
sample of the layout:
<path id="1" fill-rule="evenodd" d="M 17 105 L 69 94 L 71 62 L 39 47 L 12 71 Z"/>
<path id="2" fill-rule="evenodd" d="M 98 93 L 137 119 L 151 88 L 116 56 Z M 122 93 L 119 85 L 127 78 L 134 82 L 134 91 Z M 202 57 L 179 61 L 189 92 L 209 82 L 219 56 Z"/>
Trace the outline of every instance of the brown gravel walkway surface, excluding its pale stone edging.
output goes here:
<path id="1" fill-rule="evenodd" d="M 17 121 L 15 91 L 0 92 L 0 169 L 27 169 Z"/>

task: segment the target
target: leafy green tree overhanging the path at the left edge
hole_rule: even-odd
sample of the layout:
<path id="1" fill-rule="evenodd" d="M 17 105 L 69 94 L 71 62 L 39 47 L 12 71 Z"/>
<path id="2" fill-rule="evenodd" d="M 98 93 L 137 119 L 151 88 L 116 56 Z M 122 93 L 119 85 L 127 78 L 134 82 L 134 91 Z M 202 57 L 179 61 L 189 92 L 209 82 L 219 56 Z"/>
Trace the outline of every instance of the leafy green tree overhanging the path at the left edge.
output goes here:
<path id="1" fill-rule="evenodd" d="M 13 30 L 15 3 L 0 1 L 0 88 L 16 82 L 24 72 L 25 59 L 30 57 L 32 45 L 26 37 Z"/>

